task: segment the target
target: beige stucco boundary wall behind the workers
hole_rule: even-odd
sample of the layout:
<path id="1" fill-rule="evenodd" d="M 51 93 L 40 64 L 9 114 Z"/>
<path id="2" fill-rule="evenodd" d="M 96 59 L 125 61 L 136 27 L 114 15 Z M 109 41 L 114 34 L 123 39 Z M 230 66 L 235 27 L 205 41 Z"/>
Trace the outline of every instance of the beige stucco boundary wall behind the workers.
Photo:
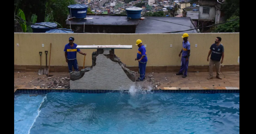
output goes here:
<path id="1" fill-rule="evenodd" d="M 45 65 L 45 50 L 50 51 L 52 43 L 51 65 L 67 66 L 64 47 L 68 38 L 74 36 L 78 45 L 133 45 L 133 49 L 116 49 L 116 56 L 127 66 L 137 66 L 134 61 L 138 47 L 137 39 L 146 44 L 147 66 L 180 65 L 178 54 L 182 49 L 182 34 L 49 34 L 49 33 L 14 33 L 14 65 L 40 65 L 39 51 L 42 51 L 42 65 Z M 238 64 L 240 53 L 240 33 L 196 33 L 189 34 L 191 57 L 189 65 L 208 65 L 207 55 L 217 36 L 222 37 L 225 48 L 224 65 Z M 19 44 L 17 47 L 16 44 Z M 42 47 L 42 44 L 45 47 Z M 173 45 L 170 48 L 170 44 Z M 198 44 L 198 47 L 195 47 Z M 82 49 L 86 52 L 86 66 L 92 65 L 91 53 L 96 49 Z M 78 53 L 78 65 L 82 66 L 83 56 Z M 48 54 L 49 61 L 49 54 Z"/>

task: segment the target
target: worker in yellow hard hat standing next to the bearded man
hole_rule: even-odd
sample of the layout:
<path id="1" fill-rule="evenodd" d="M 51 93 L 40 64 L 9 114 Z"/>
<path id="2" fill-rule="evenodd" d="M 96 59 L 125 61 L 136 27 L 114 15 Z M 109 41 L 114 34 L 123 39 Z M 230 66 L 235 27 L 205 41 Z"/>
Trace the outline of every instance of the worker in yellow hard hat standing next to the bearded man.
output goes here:
<path id="1" fill-rule="evenodd" d="M 183 43 L 182 43 L 182 50 L 179 53 L 179 57 L 182 53 L 182 58 L 181 58 L 181 67 L 180 71 L 176 75 L 184 75 L 182 78 L 187 77 L 187 72 L 188 72 L 188 61 L 189 61 L 189 56 L 190 56 L 190 43 L 188 42 L 188 34 L 184 33 L 183 36 Z"/>

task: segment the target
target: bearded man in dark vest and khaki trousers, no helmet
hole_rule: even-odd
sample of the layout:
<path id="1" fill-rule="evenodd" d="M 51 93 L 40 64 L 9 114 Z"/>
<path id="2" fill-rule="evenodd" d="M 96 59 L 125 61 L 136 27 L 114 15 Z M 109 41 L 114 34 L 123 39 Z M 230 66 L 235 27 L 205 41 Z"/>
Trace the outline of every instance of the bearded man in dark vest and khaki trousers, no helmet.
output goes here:
<path id="1" fill-rule="evenodd" d="M 209 56 L 211 55 L 211 60 L 210 60 L 210 64 L 209 64 L 210 77 L 207 79 L 213 78 L 212 72 L 213 72 L 214 64 L 215 64 L 215 68 L 216 68 L 216 72 L 217 72 L 216 78 L 222 79 L 220 77 L 220 64 L 223 63 L 223 59 L 224 59 L 224 47 L 223 47 L 223 45 L 220 44 L 220 42 L 221 42 L 221 37 L 217 37 L 215 39 L 215 43 L 212 44 L 210 47 L 210 51 L 209 51 L 208 57 L 207 57 L 207 61 L 209 61 Z M 222 58 L 222 60 L 221 60 L 221 58 Z"/>

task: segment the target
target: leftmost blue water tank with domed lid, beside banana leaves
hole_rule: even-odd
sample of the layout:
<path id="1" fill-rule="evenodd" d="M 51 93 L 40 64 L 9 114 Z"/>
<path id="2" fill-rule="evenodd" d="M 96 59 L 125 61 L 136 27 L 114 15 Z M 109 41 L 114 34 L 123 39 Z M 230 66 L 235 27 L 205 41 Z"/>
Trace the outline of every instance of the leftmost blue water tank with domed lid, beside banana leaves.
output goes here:
<path id="1" fill-rule="evenodd" d="M 35 24 L 38 24 L 38 25 L 31 25 L 33 33 L 45 33 L 46 31 L 49 31 L 53 28 L 57 28 L 57 24 L 52 22 L 41 22 L 41 23 L 35 23 Z"/>

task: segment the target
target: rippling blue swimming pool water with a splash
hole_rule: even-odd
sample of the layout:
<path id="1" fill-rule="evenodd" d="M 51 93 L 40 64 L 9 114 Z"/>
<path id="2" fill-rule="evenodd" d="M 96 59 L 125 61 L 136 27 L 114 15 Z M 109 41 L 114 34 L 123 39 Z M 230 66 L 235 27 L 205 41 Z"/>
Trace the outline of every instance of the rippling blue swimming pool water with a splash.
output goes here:
<path id="1" fill-rule="evenodd" d="M 15 134 L 237 134 L 239 93 L 17 94 Z"/>

